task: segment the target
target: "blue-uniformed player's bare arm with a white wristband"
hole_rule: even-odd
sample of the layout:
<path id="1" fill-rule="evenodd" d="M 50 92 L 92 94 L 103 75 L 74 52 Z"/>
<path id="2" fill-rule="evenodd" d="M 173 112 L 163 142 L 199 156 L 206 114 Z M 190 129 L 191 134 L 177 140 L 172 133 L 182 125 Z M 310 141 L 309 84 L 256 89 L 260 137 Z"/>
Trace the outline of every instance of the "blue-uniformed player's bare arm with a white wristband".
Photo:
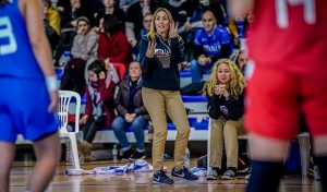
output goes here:
<path id="1" fill-rule="evenodd" d="M 21 0 L 20 10 L 25 19 L 29 41 L 36 60 L 41 68 L 51 97 L 49 111 L 56 111 L 58 107 L 57 77 L 52 67 L 52 56 L 49 41 L 45 34 L 41 21 L 41 5 L 39 0 Z"/>

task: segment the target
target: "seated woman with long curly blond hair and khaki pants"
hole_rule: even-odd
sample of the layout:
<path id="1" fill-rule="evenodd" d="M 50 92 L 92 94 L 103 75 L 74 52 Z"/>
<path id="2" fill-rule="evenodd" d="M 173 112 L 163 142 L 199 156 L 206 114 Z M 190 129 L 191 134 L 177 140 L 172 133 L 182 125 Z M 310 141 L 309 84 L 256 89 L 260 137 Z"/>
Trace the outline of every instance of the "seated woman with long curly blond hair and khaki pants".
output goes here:
<path id="1" fill-rule="evenodd" d="M 220 177 L 223 144 L 228 170 L 221 179 L 234 179 L 238 170 L 238 133 L 244 134 L 244 77 L 229 59 L 218 60 L 203 88 L 210 117 L 210 164 L 207 180 Z"/>

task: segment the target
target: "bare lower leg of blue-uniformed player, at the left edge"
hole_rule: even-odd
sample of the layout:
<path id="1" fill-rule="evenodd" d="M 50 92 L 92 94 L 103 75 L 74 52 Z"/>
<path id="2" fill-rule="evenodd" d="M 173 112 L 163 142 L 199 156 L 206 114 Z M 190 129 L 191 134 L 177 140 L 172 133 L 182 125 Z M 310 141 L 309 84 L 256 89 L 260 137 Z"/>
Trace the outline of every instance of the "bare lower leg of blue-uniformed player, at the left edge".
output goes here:
<path id="1" fill-rule="evenodd" d="M 9 191 L 9 176 L 12 161 L 15 156 L 15 144 L 8 142 L 0 142 L 0 191 Z"/>

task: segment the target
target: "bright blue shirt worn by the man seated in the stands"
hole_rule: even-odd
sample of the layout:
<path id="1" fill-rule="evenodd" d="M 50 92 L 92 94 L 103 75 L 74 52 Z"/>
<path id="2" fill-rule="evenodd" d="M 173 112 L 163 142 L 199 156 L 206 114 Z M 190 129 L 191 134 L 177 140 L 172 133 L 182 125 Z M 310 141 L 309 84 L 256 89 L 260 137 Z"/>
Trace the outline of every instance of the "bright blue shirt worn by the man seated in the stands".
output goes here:
<path id="1" fill-rule="evenodd" d="M 206 56 L 215 57 L 220 53 L 221 45 L 230 44 L 229 32 L 219 25 L 216 25 L 211 34 L 207 34 L 204 28 L 196 32 L 194 44 L 202 46 Z"/>

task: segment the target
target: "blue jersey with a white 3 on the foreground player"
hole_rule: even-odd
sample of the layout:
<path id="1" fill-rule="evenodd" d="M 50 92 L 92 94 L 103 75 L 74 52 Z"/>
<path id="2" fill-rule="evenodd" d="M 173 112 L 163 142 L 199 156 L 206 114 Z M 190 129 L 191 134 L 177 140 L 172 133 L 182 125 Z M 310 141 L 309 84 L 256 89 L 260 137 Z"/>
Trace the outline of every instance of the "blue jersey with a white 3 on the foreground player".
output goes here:
<path id="1" fill-rule="evenodd" d="M 19 0 L 0 7 L 0 76 L 44 79 L 19 9 Z"/>

